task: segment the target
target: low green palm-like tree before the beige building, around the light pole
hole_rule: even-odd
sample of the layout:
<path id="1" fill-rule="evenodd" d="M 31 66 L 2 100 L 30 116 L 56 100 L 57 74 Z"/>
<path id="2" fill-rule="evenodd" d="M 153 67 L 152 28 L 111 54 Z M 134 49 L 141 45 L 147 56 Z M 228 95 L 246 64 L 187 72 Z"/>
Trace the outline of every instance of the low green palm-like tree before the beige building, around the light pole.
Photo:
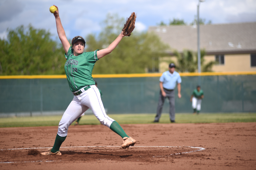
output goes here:
<path id="1" fill-rule="evenodd" d="M 210 61 L 209 63 L 204 64 L 204 55 L 205 51 L 201 50 L 201 71 L 211 72 L 212 66 L 215 64 L 215 61 Z M 190 50 L 184 50 L 183 53 L 178 53 L 178 51 L 174 51 L 174 56 L 177 59 L 176 70 L 178 70 L 178 72 L 196 72 L 198 68 L 197 53 Z"/>

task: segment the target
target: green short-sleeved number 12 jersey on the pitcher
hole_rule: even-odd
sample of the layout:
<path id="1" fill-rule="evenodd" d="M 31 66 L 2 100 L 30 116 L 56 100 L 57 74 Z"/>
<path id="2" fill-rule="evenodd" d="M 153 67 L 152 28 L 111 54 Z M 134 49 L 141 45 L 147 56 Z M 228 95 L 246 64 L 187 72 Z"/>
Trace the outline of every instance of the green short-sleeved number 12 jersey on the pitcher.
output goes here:
<path id="1" fill-rule="evenodd" d="M 65 53 L 67 61 L 64 69 L 72 92 L 76 92 L 84 86 L 95 84 L 92 79 L 92 69 L 96 61 L 98 61 L 97 51 L 84 52 L 74 56 L 74 50 L 70 47 L 68 53 Z"/>

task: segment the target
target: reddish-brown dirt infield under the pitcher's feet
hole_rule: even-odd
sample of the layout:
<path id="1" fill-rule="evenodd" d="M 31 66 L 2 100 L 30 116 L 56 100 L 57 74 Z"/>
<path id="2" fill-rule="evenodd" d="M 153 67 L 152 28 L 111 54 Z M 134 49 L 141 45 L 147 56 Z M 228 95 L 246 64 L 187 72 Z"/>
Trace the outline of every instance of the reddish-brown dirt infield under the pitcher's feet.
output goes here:
<path id="1" fill-rule="evenodd" d="M 72 125 L 61 156 L 39 154 L 58 127 L 0 128 L 0 169 L 256 170 L 256 123 L 121 126 L 134 147 L 122 149 L 121 137 L 103 125 Z"/>

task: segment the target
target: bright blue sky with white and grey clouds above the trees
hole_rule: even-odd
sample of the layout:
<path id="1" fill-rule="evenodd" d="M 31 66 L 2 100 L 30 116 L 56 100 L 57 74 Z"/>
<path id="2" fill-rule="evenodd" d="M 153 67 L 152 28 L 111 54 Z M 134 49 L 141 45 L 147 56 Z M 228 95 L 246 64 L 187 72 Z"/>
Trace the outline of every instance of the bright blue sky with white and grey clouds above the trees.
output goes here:
<path id="1" fill-rule="evenodd" d="M 191 23 L 197 13 L 198 0 L 0 0 L 0 38 L 7 28 L 31 24 L 49 30 L 57 37 L 55 19 L 49 8 L 59 8 L 68 39 L 99 33 L 106 14 L 127 18 L 137 14 L 136 31 L 146 31 L 161 21 L 173 18 Z M 205 0 L 200 3 L 200 18 L 212 24 L 256 22 L 256 0 Z"/>

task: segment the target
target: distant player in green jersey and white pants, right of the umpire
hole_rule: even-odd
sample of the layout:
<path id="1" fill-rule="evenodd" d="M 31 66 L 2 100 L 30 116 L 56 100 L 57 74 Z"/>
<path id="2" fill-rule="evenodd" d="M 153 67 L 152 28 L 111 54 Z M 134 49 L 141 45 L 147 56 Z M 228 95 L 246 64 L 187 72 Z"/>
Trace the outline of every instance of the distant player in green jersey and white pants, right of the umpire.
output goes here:
<path id="1" fill-rule="evenodd" d="M 202 98 L 204 98 L 204 92 L 201 90 L 201 87 L 198 85 L 193 91 L 190 102 L 192 102 L 193 114 L 199 114 L 201 110 Z"/>

